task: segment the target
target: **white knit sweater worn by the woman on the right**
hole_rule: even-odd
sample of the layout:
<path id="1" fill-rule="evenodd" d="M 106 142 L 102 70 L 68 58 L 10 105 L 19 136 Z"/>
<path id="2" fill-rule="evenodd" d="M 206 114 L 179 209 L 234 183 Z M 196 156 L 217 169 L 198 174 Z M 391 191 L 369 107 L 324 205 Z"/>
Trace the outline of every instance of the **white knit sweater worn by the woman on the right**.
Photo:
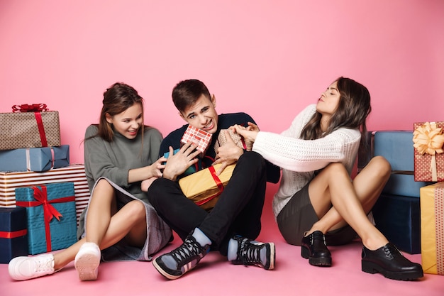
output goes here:
<path id="1" fill-rule="evenodd" d="M 280 135 L 265 131 L 257 133 L 252 150 L 282 168 L 279 190 L 273 199 L 275 217 L 290 198 L 313 178 L 315 170 L 325 168 L 328 163 L 340 162 L 350 174 L 352 172 L 360 131 L 339 128 L 324 138 L 301 140 L 301 131 L 315 112 L 315 104 L 307 106 Z"/>

